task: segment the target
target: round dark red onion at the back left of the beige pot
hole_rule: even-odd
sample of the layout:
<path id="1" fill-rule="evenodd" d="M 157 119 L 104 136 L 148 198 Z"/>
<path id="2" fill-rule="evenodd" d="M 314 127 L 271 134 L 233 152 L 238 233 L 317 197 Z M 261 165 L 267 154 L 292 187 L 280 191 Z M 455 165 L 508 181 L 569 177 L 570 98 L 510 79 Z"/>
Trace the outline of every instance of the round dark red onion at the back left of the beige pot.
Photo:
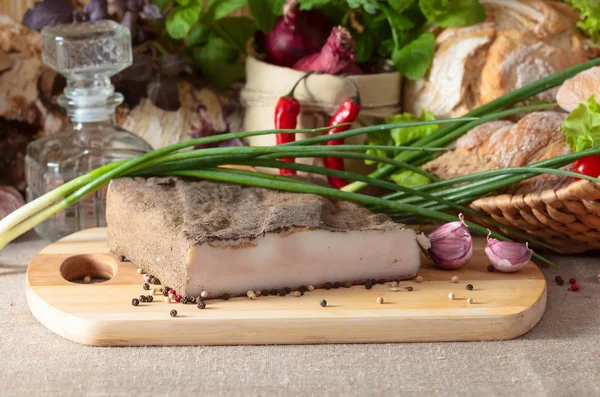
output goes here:
<path id="1" fill-rule="evenodd" d="M 333 24 L 319 11 L 300 11 L 297 0 L 287 0 L 283 16 L 265 37 L 267 62 L 292 67 L 298 59 L 318 52 Z"/>

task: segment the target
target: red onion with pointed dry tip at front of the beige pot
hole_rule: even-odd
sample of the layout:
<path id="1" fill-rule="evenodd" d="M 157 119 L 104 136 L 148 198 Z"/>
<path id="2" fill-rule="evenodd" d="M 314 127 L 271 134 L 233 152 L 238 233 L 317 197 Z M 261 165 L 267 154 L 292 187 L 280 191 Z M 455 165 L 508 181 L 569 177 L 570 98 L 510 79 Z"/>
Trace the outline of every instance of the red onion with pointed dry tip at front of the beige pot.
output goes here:
<path id="1" fill-rule="evenodd" d="M 354 63 L 354 40 L 352 35 L 341 26 L 331 29 L 331 34 L 320 52 L 300 59 L 294 69 L 303 72 L 321 72 L 327 74 L 353 73 L 361 70 Z"/>

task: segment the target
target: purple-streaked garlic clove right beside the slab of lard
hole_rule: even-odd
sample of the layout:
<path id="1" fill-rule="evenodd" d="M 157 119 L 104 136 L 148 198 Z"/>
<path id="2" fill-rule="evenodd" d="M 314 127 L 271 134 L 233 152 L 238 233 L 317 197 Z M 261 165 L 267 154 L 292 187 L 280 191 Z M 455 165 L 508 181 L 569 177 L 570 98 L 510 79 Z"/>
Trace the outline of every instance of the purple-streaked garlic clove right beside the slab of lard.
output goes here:
<path id="1" fill-rule="evenodd" d="M 459 221 L 446 223 L 427 235 L 429 247 L 423 249 L 427 256 L 442 269 L 458 269 L 473 255 L 473 241 L 464 216 Z"/>

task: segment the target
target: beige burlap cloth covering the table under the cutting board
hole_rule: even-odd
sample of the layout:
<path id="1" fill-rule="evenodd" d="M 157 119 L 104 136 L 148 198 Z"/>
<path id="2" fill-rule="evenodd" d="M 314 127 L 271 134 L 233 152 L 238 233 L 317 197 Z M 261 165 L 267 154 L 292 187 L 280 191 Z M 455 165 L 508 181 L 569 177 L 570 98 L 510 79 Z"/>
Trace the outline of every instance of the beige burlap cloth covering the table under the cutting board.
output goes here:
<path id="1" fill-rule="evenodd" d="M 544 269 L 549 281 L 576 277 L 581 291 L 549 282 L 542 321 L 512 341 L 93 348 L 29 312 L 26 264 L 45 244 L 29 235 L 0 252 L 0 396 L 600 396 L 591 256 Z"/>

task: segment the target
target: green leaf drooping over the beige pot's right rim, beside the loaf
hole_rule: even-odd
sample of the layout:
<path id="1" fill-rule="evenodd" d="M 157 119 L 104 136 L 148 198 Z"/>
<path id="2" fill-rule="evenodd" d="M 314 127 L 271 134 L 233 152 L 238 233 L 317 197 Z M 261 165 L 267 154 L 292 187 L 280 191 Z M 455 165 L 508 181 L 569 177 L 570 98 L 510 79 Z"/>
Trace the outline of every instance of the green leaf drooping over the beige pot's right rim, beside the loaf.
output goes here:
<path id="1" fill-rule="evenodd" d="M 425 76 L 435 50 L 433 33 L 422 33 L 415 40 L 402 48 L 394 48 L 392 61 L 396 69 L 410 80 L 418 80 Z"/>

